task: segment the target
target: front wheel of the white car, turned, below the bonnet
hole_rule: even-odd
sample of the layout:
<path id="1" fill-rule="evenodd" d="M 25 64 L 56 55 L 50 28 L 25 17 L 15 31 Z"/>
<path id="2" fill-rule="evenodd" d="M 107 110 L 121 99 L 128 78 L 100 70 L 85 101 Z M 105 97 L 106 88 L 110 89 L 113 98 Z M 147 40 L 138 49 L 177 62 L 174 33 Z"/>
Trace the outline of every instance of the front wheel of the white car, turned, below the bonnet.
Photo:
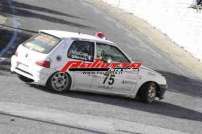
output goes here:
<path id="1" fill-rule="evenodd" d="M 145 103 L 154 102 L 157 95 L 157 84 L 154 82 L 149 82 L 144 84 L 140 88 L 138 98 Z"/>

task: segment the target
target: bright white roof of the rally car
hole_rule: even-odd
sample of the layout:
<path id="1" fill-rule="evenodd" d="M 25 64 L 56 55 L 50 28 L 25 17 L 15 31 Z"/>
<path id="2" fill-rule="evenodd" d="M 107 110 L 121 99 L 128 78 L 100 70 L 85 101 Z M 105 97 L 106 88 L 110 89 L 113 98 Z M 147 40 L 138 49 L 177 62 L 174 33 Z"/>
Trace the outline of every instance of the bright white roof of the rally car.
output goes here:
<path id="1" fill-rule="evenodd" d="M 105 39 L 98 38 L 93 35 L 82 34 L 82 33 L 75 33 L 75 32 L 67 32 L 67 31 L 60 31 L 60 30 L 40 30 L 39 32 L 47 33 L 58 38 L 78 38 L 78 39 L 86 39 L 96 42 L 108 43 L 110 45 L 115 45 L 113 42 Z"/>

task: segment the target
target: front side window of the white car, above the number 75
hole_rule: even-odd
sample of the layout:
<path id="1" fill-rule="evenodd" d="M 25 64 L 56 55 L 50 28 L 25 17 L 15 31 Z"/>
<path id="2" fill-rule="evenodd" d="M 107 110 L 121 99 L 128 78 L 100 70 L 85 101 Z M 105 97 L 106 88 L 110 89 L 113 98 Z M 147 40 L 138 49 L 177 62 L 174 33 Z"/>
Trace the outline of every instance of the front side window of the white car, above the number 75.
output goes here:
<path id="1" fill-rule="evenodd" d="M 130 62 L 128 58 L 117 47 L 103 43 L 96 45 L 97 59 L 112 62 Z"/>

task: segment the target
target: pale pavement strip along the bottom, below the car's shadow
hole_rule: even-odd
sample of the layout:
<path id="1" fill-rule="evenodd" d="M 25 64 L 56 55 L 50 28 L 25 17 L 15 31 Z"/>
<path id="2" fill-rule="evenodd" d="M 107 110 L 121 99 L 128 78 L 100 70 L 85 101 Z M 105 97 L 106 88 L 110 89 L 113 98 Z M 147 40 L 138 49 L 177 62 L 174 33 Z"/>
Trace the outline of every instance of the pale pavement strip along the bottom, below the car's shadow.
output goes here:
<path id="1" fill-rule="evenodd" d="M 75 114 L 26 104 L 0 102 L 0 114 L 110 134 L 185 134 L 180 131 L 125 120 Z"/>

